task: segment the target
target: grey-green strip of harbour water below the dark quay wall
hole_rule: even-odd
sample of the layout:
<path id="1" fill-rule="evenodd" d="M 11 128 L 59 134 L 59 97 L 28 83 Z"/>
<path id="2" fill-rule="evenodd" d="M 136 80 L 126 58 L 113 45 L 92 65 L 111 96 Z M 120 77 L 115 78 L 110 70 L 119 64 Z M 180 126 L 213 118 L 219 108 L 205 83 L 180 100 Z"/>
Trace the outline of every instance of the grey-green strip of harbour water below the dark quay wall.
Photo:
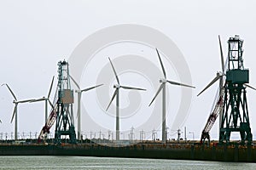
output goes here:
<path id="1" fill-rule="evenodd" d="M 229 169 L 253 170 L 256 163 L 183 161 L 86 156 L 0 156 L 0 169 Z"/>

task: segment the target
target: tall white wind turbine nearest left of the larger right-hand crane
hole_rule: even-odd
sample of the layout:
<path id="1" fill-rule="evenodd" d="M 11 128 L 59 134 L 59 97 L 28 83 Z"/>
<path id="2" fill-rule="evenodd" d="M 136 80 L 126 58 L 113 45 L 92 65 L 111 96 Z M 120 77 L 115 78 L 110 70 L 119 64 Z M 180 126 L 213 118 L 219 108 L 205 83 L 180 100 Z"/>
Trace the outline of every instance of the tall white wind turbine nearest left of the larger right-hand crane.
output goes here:
<path id="1" fill-rule="evenodd" d="M 170 84 L 177 85 L 177 86 L 184 86 L 184 87 L 189 87 L 189 88 L 195 88 L 195 87 L 183 84 L 181 82 L 173 82 L 173 81 L 167 80 L 165 67 L 162 63 L 162 60 L 160 59 L 160 54 L 158 52 L 158 49 L 157 48 L 155 48 L 155 49 L 156 49 L 156 52 L 157 52 L 159 60 L 160 60 L 160 65 L 162 67 L 164 78 L 160 79 L 160 88 L 157 90 L 156 94 L 154 95 L 154 98 L 152 99 L 152 101 L 150 102 L 150 104 L 148 106 L 150 106 L 154 102 L 154 99 L 162 90 L 162 111 L 163 111 L 163 113 L 162 113 L 162 142 L 166 142 L 166 82 L 169 82 Z"/>

